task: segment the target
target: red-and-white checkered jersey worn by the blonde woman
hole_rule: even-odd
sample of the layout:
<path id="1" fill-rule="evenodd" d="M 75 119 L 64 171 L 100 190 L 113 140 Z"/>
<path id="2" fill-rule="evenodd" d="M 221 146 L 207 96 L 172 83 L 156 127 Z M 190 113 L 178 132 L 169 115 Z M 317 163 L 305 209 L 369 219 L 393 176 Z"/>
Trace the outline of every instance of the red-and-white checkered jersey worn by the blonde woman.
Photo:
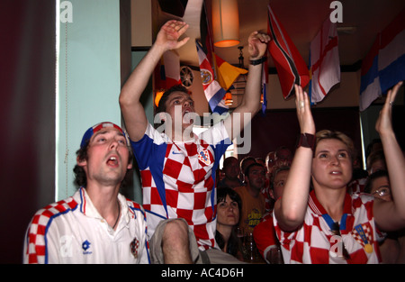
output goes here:
<path id="1" fill-rule="evenodd" d="M 295 232 L 283 232 L 274 216 L 275 231 L 282 246 L 284 262 L 380 263 L 373 203 L 373 196 L 347 194 L 337 235 L 331 231 L 331 218 L 320 205 L 314 191 L 311 191 L 304 223 L 300 229 Z M 347 250 L 349 259 L 343 257 L 343 248 Z"/>

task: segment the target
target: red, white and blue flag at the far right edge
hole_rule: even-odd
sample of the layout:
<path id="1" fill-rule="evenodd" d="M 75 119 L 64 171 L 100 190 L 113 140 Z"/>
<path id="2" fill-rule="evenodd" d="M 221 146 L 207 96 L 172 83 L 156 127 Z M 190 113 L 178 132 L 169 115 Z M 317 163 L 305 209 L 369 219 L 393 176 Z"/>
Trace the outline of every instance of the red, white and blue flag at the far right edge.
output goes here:
<path id="1" fill-rule="evenodd" d="M 373 47 L 362 64 L 360 111 L 405 80 L 405 9 L 383 32 L 377 34 Z"/>

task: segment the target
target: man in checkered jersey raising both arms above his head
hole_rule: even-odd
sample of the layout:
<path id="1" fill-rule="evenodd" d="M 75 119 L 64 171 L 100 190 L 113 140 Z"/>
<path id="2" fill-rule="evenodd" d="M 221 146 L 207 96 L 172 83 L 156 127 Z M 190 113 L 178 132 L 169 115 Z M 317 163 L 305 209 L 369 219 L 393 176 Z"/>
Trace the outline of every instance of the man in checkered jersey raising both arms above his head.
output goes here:
<path id="1" fill-rule="evenodd" d="M 188 41 L 179 40 L 187 28 L 179 21 L 162 26 L 122 87 L 121 111 L 141 171 L 152 263 L 229 263 L 232 257 L 220 251 L 215 241 L 215 170 L 230 141 L 242 130 L 241 126 L 233 130 L 233 125 L 246 124 L 260 108 L 262 63 L 269 37 L 250 34 L 252 64 L 245 97 L 227 119 L 194 135 L 193 99 L 185 88 L 175 86 L 157 106 L 165 129 L 157 132 L 148 123 L 139 98 L 163 53 Z"/>

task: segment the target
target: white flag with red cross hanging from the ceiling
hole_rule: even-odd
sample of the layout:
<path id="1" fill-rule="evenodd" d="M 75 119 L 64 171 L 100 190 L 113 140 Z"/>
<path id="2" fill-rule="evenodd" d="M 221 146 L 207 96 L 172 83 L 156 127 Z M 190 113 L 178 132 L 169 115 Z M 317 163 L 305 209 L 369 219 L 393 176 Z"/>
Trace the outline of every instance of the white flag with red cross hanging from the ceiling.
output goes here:
<path id="1" fill-rule="evenodd" d="M 323 100 L 330 88 L 340 82 L 340 61 L 338 51 L 337 24 L 328 19 L 322 24 L 320 32 L 311 41 L 311 103 Z"/>

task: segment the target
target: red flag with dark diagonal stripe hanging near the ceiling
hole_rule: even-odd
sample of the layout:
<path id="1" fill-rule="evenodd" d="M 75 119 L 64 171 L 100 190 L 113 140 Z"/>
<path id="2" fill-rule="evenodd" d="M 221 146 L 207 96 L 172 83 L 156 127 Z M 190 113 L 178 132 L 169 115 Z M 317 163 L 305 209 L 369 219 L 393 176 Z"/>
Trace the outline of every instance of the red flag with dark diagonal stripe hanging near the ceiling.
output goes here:
<path id="1" fill-rule="evenodd" d="M 288 99 L 294 93 L 295 84 L 302 87 L 308 85 L 310 74 L 305 61 L 285 32 L 283 25 L 276 18 L 270 5 L 267 7 L 267 24 L 272 39 L 268 44 L 268 50 L 275 62 L 284 99 Z"/>

